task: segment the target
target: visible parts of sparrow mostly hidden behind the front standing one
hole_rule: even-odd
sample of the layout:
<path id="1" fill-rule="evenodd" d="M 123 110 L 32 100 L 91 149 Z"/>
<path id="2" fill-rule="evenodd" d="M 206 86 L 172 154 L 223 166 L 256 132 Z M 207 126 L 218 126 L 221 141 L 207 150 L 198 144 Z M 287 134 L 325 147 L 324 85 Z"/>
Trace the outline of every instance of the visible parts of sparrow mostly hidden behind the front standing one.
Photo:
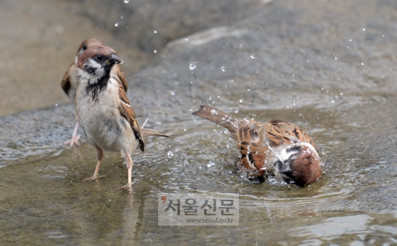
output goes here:
<path id="1" fill-rule="evenodd" d="M 72 99 L 73 102 L 75 101 L 76 90 L 77 86 L 79 85 L 79 81 L 77 79 L 77 60 L 79 59 L 79 56 L 81 56 L 81 54 L 86 51 L 86 49 L 94 45 L 103 45 L 103 42 L 101 40 L 98 40 L 97 38 L 89 38 L 81 42 L 79 49 L 77 49 L 75 61 L 72 62 L 71 66 L 69 66 L 68 70 L 66 70 L 66 73 L 62 79 L 62 89 L 64 90 L 65 94 Z M 121 71 L 120 66 L 116 64 L 113 67 L 112 72 L 118 75 L 120 81 L 123 83 L 125 91 L 127 91 L 128 82 L 127 79 L 125 79 L 125 75 L 123 71 Z M 79 145 L 79 139 L 81 136 L 80 134 L 77 135 L 78 128 L 79 119 L 77 119 L 76 117 L 75 129 L 73 130 L 71 140 L 68 140 L 65 145 L 70 145 L 71 147 L 73 147 L 73 145 Z"/>

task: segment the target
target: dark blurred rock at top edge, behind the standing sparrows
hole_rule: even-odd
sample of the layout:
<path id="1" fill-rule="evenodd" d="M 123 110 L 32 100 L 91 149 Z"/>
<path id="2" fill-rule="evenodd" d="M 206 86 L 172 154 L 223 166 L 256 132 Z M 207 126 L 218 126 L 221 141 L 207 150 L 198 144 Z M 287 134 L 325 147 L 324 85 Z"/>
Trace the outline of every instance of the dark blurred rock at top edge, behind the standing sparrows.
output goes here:
<path id="1" fill-rule="evenodd" d="M 231 25 L 263 10 L 267 0 L 82 1 L 81 12 L 118 38 L 153 53 L 167 42 L 209 27 Z M 98 14 L 106 13 L 106 14 Z M 117 24 L 117 27 L 115 26 Z"/>

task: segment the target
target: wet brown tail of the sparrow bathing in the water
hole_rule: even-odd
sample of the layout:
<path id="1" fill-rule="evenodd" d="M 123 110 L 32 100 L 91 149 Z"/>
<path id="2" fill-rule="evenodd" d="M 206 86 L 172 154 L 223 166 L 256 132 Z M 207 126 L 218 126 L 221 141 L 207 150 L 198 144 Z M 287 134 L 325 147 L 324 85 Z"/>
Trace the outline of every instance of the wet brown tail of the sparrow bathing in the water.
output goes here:
<path id="1" fill-rule="evenodd" d="M 232 134 L 237 133 L 238 125 L 241 121 L 240 119 L 235 118 L 235 116 L 222 112 L 218 110 L 218 108 L 213 108 L 211 106 L 200 106 L 199 111 L 193 112 L 192 114 L 222 125 L 222 127 L 225 127 Z"/>

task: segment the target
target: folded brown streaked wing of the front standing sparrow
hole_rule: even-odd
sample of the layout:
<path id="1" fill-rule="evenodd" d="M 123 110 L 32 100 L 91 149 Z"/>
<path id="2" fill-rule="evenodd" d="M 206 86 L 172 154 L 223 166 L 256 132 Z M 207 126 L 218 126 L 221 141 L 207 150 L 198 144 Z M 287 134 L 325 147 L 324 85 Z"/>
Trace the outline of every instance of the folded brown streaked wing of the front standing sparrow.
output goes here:
<path id="1" fill-rule="evenodd" d="M 144 141 L 143 141 L 143 137 L 142 137 L 142 130 L 138 123 L 138 119 L 136 117 L 135 112 L 133 112 L 131 103 L 129 103 L 129 100 L 127 98 L 127 94 L 125 93 L 123 84 L 121 83 L 121 81 L 117 77 L 117 75 L 115 75 L 114 78 L 118 82 L 118 97 L 120 98 L 120 103 L 118 104 L 118 110 L 125 117 L 125 119 L 127 119 L 127 121 L 129 122 L 129 125 L 131 125 L 133 134 L 135 134 L 136 139 L 139 141 L 140 150 L 142 150 L 142 152 L 143 152 L 144 151 Z"/>

